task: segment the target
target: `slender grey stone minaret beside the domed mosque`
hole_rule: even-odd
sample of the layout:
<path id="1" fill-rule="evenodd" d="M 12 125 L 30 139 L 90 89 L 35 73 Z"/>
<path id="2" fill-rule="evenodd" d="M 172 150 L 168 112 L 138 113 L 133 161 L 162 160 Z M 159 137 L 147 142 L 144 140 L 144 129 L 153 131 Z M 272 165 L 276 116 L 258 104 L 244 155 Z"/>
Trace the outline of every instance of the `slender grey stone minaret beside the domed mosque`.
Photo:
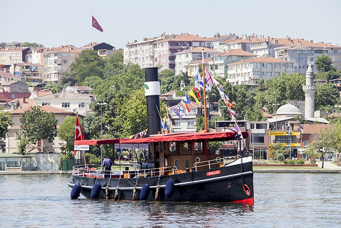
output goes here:
<path id="1" fill-rule="evenodd" d="M 305 107 L 304 107 L 304 118 L 314 118 L 315 113 L 315 100 L 314 95 L 316 92 L 316 86 L 314 83 L 314 74 L 311 69 L 311 62 L 309 58 L 308 69 L 305 73 L 305 86 L 302 86 L 303 92 L 305 93 Z"/>

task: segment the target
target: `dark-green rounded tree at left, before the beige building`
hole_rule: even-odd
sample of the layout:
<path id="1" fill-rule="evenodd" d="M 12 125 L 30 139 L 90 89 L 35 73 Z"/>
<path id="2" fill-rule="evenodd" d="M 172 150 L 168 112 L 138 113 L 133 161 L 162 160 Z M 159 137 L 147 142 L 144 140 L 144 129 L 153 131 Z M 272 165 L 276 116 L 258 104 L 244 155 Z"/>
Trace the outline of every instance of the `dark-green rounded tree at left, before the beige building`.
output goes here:
<path id="1" fill-rule="evenodd" d="M 40 140 L 52 142 L 56 136 L 57 122 L 53 113 L 48 113 L 40 106 L 33 106 L 20 116 L 22 132 L 19 138 L 27 138 L 27 142 L 35 144 Z"/>

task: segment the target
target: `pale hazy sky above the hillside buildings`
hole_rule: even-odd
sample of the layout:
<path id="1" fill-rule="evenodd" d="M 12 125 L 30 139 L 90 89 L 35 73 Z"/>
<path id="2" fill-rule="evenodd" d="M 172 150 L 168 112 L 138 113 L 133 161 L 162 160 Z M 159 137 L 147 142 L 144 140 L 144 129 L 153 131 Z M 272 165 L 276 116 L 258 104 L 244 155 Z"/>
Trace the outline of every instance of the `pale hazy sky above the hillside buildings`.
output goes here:
<path id="1" fill-rule="evenodd" d="M 91 15 L 104 30 L 93 29 L 93 41 L 117 48 L 144 37 L 186 32 L 288 35 L 341 45 L 340 0 L 1 0 L 0 9 L 0 42 L 45 47 L 90 43 Z"/>

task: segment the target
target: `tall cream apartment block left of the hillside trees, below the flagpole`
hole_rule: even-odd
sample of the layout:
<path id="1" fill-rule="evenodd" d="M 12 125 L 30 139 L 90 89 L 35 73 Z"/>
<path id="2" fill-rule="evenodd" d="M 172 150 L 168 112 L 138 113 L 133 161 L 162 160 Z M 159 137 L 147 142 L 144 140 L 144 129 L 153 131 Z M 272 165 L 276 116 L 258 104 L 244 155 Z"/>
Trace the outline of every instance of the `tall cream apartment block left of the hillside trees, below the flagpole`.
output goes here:
<path id="1" fill-rule="evenodd" d="M 44 81 L 58 83 L 63 72 L 69 70 L 81 50 L 72 45 L 53 47 L 44 53 Z"/>

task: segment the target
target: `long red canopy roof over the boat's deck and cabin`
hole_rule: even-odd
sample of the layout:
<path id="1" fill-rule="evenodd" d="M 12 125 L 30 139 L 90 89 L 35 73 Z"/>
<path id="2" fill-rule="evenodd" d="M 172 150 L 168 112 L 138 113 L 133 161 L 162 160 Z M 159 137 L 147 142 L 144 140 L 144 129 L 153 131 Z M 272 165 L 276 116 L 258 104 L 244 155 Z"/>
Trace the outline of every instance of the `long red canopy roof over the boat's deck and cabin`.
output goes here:
<path id="1" fill-rule="evenodd" d="M 248 137 L 247 132 L 242 132 L 243 138 Z M 100 144 L 114 144 L 114 143 L 148 143 L 148 142 L 166 142 L 166 141 L 188 141 L 200 139 L 212 139 L 214 141 L 230 141 L 234 140 L 236 133 L 234 131 L 228 132 L 210 132 L 210 133 L 175 133 L 166 135 L 155 135 L 147 138 L 139 139 L 93 139 L 75 141 L 75 145 L 100 145 Z"/>

